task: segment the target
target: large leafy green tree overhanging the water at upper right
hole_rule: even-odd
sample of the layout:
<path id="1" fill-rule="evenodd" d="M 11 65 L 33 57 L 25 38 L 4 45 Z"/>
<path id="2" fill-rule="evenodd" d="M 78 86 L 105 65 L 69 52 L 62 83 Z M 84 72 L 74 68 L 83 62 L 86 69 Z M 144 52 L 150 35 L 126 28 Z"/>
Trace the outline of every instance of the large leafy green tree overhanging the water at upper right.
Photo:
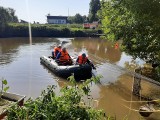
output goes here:
<path id="1" fill-rule="evenodd" d="M 98 12 L 108 40 L 122 39 L 122 48 L 134 58 L 160 63 L 159 0 L 102 0 Z"/>

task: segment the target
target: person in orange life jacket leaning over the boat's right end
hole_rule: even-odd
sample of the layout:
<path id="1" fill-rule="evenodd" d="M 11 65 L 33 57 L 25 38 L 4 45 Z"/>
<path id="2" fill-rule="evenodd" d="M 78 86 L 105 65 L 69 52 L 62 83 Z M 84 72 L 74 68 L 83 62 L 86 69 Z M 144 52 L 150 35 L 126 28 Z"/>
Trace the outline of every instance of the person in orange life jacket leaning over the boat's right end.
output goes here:
<path id="1" fill-rule="evenodd" d="M 92 66 L 93 69 L 96 69 L 95 66 L 93 65 L 93 63 L 86 57 L 85 53 L 83 53 L 82 55 L 78 56 L 78 58 L 76 60 L 76 63 L 79 64 L 79 65 L 88 63 L 89 65 Z"/>

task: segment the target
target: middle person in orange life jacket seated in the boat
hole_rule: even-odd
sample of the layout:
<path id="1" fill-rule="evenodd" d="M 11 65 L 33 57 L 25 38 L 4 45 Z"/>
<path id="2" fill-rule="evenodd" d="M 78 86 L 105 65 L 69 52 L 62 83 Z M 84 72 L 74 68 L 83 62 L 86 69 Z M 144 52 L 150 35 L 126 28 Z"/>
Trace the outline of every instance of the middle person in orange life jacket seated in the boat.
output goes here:
<path id="1" fill-rule="evenodd" d="M 59 64 L 63 64 L 63 65 L 71 65 L 72 64 L 71 57 L 68 54 L 66 48 L 63 48 L 62 51 L 57 54 L 56 61 Z"/>

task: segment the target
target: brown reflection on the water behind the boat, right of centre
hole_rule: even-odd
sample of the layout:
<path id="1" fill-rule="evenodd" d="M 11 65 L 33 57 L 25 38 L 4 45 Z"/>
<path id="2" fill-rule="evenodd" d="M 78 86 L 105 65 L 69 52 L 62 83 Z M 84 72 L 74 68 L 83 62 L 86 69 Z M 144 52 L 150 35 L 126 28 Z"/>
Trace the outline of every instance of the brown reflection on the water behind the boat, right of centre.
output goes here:
<path id="1" fill-rule="evenodd" d="M 113 43 L 102 40 L 99 38 L 84 38 L 84 39 L 74 39 L 72 44 L 77 52 L 86 49 L 88 54 L 93 54 L 99 58 L 109 60 L 112 63 L 115 63 L 120 60 L 121 52 L 119 49 L 113 47 Z"/>

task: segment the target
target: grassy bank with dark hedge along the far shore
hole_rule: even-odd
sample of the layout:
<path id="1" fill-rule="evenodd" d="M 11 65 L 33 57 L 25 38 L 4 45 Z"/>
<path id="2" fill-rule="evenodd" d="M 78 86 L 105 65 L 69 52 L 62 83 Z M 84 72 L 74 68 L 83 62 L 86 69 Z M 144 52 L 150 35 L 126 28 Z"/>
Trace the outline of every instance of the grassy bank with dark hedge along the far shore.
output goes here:
<path id="1" fill-rule="evenodd" d="M 31 24 L 33 37 L 91 37 L 97 36 L 98 29 L 83 29 L 82 24 L 51 25 Z M 27 23 L 10 23 L 0 37 L 28 37 Z"/>

